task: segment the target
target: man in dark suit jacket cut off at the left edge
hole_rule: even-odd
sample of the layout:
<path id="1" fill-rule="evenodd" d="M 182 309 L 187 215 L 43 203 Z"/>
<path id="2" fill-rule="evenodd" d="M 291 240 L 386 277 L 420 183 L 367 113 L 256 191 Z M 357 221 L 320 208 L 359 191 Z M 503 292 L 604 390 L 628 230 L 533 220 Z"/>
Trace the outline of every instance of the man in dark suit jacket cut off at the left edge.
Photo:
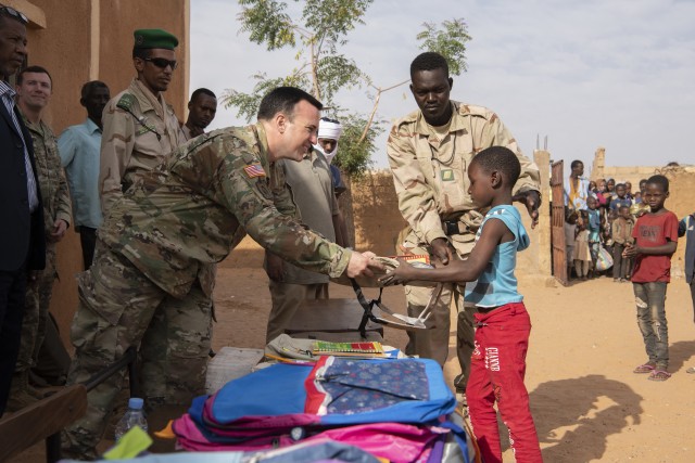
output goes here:
<path id="1" fill-rule="evenodd" d="M 0 416 L 20 348 L 26 281 L 46 262 L 31 136 L 7 82 L 26 59 L 27 22 L 18 11 L 0 7 Z"/>

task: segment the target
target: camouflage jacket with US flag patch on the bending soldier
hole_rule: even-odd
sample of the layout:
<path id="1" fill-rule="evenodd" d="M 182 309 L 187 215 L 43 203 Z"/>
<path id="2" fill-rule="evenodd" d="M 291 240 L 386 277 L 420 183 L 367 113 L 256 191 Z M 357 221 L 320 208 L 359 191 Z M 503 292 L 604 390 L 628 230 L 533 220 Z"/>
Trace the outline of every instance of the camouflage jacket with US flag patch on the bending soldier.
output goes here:
<path id="1" fill-rule="evenodd" d="M 223 260 L 247 233 L 291 263 L 339 276 L 351 252 L 300 224 L 267 153 L 261 124 L 189 141 L 124 194 L 100 239 L 175 297 L 188 293 L 201 265 Z"/>

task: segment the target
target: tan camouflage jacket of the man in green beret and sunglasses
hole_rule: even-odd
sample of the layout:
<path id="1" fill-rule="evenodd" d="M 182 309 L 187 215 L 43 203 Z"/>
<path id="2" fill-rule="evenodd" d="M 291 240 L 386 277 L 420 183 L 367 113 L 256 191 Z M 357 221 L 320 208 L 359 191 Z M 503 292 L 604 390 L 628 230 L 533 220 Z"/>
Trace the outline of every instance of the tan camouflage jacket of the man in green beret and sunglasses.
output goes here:
<path id="1" fill-rule="evenodd" d="M 180 142 L 174 110 L 138 79 L 103 112 L 99 191 L 104 214 L 142 173 L 154 169 Z"/>

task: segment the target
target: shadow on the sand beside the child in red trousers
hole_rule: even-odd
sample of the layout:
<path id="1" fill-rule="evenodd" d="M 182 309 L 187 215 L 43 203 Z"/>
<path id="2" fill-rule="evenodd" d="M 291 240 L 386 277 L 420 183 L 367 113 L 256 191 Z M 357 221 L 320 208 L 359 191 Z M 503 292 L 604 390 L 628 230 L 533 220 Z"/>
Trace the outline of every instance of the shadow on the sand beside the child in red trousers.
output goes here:
<path id="1" fill-rule="evenodd" d="M 530 393 L 546 462 L 602 460 L 607 437 L 640 424 L 642 396 L 603 375 L 551 381 Z"/>

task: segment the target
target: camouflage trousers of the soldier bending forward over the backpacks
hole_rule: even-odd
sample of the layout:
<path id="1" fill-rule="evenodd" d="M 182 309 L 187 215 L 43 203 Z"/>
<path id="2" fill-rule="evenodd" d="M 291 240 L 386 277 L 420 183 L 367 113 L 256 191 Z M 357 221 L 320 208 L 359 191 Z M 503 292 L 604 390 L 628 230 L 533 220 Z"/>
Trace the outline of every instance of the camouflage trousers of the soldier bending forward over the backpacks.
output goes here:
<path id="1" fill-rule="evenodd" d="M 200 285 L 176 299 L 100 241 L 91 268 L 78 280 L 68 385 L 88 381 L 139 345 L 146 403 L 188 404 L 204 394 L 212 306 Z M 63 435 L 65 455 L 94 456 L 124 377 L 122 371 L 89 391 L 86 415 Z"/>

